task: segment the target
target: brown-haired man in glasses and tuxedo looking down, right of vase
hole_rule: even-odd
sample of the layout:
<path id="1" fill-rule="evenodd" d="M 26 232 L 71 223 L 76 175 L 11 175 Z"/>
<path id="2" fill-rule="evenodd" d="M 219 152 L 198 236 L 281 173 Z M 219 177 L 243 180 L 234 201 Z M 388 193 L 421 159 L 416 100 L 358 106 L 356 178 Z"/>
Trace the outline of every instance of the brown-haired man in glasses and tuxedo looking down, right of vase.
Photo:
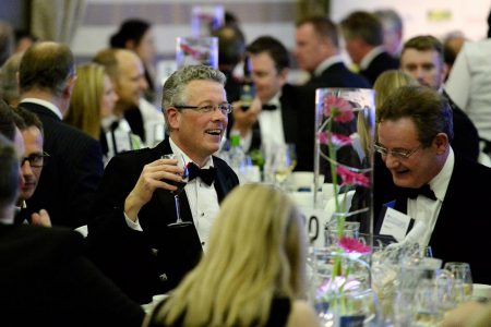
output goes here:
<path id="1" fill-rule="evenodd" d="M 443 262 L 467 262 L 475 282 L 491 283 L 491 263 L 482 257 L 489 194 L 476 186 L 491 183 L 491 169 L 452 149 L 447 101 L 429 87 L 403 86 L 379 108 L 376 123 L 375 149 L 396 185 L 376 223 L 380 233 L 430 245 Z M 393 209 L 405 215 L 388 215 Z"/>

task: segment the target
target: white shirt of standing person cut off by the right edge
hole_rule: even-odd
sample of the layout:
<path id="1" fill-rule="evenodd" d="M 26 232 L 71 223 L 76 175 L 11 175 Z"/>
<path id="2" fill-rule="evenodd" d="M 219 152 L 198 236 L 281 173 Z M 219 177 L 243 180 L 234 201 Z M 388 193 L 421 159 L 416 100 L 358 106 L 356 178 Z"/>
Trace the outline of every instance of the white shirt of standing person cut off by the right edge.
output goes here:
<path id="1" fill-rule="evenodd" d="M 451 99 L 491 141 L 491 39 L 465 43 L 445 83 Z"/>

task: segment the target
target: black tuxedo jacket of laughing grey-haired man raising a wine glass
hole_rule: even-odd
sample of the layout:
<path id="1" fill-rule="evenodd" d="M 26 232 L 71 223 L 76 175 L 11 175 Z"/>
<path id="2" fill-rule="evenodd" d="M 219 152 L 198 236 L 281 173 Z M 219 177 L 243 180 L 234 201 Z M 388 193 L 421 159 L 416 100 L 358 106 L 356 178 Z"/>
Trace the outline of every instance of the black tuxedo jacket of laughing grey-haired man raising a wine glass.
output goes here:
<path id="1" fill-rule="evenodd" d="M 155 148 L 129 152 L 113 157 L 103 177 L 88 225 L 91 257 L 127 294 L 140 303 L 175 288 L 203 253 L 194 225 L 170 229 L 176 221 L 173 195 L 156 190 L 139 213 L 143 232 L 128 227 L 124 199 L 136 184 L 143 167 L 171 153 L 168 138 Z M 213 157 L 217 168 L 214 183 L 219 202 L 239 184 L 231 168 Z M 181 216 L 193 221 L 185 192 L 181 193 Z"/>

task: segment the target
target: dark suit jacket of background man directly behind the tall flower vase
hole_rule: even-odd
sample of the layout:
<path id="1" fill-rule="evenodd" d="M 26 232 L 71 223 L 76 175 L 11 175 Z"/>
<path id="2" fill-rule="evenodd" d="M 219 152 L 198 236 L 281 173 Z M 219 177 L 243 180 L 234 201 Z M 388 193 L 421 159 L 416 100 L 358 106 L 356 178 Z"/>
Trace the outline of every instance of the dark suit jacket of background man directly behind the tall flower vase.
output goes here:
<path id="1" fill-rule="evenodd" d="M 306 166 L 299 170 L 313 170 L 314 162 L 314 140 L 315 140 L 315 89 L 324 87 L 355 87 L 371 88 L 370 83 L 361 75 L 348 70 L 343 62 L 335 63 L 322 72 L 321 75 L 313 76 L 306 85 L 301 87 L 299 105 L 299 122 L 301 128 L 299 132 L 298 157 L 306 158 Z M 351 157 L 351 154 L 346 156 Z M 359 161 L 359 159 L 357 159 Z M 321 160 L 323 162 L 325 160 Z M 344 162 L 349 162 L 344 160 Z M 321 173 L 324 173 L 326 180 L 331 180 L 331 170 L 328 167 L 321 167 Z"/>

